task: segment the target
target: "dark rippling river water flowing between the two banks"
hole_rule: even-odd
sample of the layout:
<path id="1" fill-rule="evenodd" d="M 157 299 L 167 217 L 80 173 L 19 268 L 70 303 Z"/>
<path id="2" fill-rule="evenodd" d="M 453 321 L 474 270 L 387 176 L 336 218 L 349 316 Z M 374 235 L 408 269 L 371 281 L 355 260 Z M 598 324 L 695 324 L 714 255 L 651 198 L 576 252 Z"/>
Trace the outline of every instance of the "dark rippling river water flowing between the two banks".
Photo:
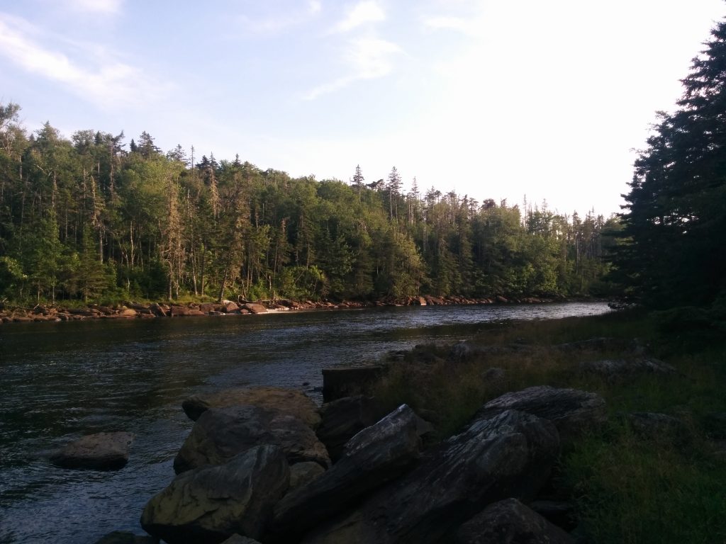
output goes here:
<path id="1" fill-rule="evenodd" d="M 143 534 L 192 421 L 181 401 L 223 387 L 294 387 L 320 402 L 321 369 L 454 341 L 511 319 L 585 316 L 605 303 L 433 306 L 132 321 L 12 323 L 0 330 L 0 543 L 92 544 Z M 60 469 L 83 434 L 136 435 L 120 471 Z"/>

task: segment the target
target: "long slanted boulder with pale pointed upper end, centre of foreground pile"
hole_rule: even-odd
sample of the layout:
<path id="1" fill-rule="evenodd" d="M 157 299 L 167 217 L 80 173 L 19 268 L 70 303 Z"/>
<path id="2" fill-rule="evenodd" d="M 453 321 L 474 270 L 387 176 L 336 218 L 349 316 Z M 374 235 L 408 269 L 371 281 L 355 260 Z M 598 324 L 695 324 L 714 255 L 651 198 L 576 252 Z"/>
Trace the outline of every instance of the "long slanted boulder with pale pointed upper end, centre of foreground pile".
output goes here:
<path id="1" fill-rule="evenodd" d="M 418 457 L 417 416 L 401 405 L 348 441 L 343 456 L 314 482 L 291 491 L 274 509 L 274 527 L 295 540 L 399 476 Z"/>

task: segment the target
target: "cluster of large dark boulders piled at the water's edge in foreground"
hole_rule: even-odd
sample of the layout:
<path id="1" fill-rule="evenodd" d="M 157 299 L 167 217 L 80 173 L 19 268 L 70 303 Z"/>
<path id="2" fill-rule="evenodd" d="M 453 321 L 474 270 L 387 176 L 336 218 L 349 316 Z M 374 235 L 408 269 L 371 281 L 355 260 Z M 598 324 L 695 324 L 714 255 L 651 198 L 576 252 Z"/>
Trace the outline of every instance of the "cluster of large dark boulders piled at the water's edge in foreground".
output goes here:
<path id="1" fill-rule="evenodd" d="M 150 540 L 115 532 L 99 542 L 572 543 L 571 519 L 561 522 L 571 506 L 553 507 L 542 490 L 563 444 L 605 420 L 593 393 L 531 387 L 423 448 L 430 421 L 364 395 L 317 408 L 301 392 L 261 387 L 182 408 L 195 424 L 176 478 L 142 513 Z"/>

